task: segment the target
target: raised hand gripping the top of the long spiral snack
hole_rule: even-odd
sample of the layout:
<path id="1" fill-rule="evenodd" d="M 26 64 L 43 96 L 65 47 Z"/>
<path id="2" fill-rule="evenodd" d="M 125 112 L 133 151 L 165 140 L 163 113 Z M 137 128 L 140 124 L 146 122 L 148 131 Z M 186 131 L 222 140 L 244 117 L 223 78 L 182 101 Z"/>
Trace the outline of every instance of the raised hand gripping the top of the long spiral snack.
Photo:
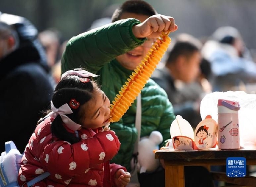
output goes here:
<path id="1" fill-rule="evenodd" d="M 161 14 L 150 16 L 141 24 L 133 27 L 133 33 L 136 38 L 158 38 L 162 31 L 174 32 L 178 29 L 174 18 Z"/>

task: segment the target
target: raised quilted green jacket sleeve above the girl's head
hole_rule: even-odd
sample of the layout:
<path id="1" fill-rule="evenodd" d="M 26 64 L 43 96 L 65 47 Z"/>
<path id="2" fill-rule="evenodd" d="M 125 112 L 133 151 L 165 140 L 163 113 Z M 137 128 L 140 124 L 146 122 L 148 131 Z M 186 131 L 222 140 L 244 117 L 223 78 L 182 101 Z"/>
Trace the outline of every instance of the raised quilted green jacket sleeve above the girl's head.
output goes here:
<path id="1" fill-rule="evenodd" d="M 96 73 L 116 56 L 143 43 L 145 39 L 137 39 L 132 33 L 132 27 L 140 23 L 132 18 L 119 20 L 71 38 L 62 56 L 61 72 L 85 67 Z"/>

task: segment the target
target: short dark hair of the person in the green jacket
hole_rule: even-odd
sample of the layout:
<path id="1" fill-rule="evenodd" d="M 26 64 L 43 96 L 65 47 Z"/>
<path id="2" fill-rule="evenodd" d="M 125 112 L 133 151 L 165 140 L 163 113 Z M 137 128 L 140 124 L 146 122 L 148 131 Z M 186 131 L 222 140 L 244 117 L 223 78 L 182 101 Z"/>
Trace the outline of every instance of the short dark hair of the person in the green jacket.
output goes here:
<path id="1" fill-rule="evenodd" d="M 136 13 L 141 15 L 152 16 L 157 14 L 155 9 L 146 1 L 143 0 L 127 0 L 120 7 L 115 9 L 112 15 L 112 22 L 120 20 L 122 13 Z"/>

